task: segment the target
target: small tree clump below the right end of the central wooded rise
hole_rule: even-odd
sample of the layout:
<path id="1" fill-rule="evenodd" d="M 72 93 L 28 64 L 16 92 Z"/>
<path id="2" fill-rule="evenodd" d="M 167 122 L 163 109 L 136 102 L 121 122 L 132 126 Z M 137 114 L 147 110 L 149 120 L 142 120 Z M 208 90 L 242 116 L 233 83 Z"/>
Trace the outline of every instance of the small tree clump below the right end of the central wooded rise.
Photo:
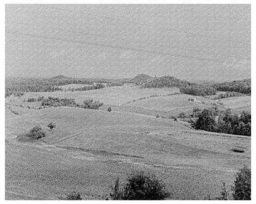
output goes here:
<path id="1" fill-rule="evenodd" d="M 216 89 L 206 85 L 188 85 L 180 88 L 180 92 L 194 96 L 215 95 Z"/>

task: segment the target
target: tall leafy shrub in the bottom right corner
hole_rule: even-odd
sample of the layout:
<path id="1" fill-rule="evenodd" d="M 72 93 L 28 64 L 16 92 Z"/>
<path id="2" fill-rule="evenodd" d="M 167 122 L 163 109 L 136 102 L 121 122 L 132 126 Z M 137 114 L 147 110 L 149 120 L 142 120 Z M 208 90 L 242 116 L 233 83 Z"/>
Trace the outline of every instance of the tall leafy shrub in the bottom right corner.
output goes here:
<path id="1" fill-rule="evenodd" d="M 233 186 L 234 200 L 250 200 L 251 170 L 244 166 L 236 173 L 236 180 Z"/>

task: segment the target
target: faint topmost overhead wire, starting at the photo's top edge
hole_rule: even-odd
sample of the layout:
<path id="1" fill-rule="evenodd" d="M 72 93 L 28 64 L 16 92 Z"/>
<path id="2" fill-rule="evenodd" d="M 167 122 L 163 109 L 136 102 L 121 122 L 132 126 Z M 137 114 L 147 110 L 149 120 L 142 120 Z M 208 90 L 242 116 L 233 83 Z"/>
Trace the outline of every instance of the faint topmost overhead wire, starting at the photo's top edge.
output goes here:
<path id="1" fill-rule="evenodd" d="M 75 10 L 60 9 L 60 8 L 57 8 L 57 7 L 54 7 L 54 6 L 48 6 L 48 5 L 46 6 L 46 5 L 42 5 L 42 4 L 35 4 L 35 5 L 42 6 L 42 7 L 47 7 L 47 8 L 50 8 L 50 9 L 65 10 L 66 12 L 80 13 L 82 15 L 90 16 L 87 13 L 79 12 L 79 11 L 75 11 Z M 204 37 L 204 38 L 208 38 L 208 39 L 222 40 L 223 42 L 239 43 L 239 44 L 242 44 L 242 45 L 250 46 L 250 43 L 241 42 L 241 41 L 237 41 L 237 40 L 224 39 L 224 38 L 221 38 L 221 37 L 213 37 L 213 36 L 198 34 L 198 33 L 194 33 L 194 32 L 181 31 L 181 30 L 178 30 L 178 29 L 165 28 L 165 27 L 161 27 L 161 26 L 154 26 L 154 25 L 150 25 L 150 24 L 147 24 L 147 23 L 138 23 L 138 22 L 135 22 L 135 21 L 121 20 L 119 18 L 106 17 L 105 15 L 95 15 L 94 14 L 93 16 L 100 17 L 100 18 L 106 18 L 106 19 L 113 20 L 113 21 L 120 21 L 120 22 L 123 22 L 123 23 L 131 23 L 131 24 L 134 24 L 134 25 L 147 26 L 149 28 L 154 28 L 154 29 L 162 29 L 164 31 L 179 32 L 179 33 L 186 34 L 186 35 L 191 35 L 191 36 L 199 36 L 199 37 Z"/>

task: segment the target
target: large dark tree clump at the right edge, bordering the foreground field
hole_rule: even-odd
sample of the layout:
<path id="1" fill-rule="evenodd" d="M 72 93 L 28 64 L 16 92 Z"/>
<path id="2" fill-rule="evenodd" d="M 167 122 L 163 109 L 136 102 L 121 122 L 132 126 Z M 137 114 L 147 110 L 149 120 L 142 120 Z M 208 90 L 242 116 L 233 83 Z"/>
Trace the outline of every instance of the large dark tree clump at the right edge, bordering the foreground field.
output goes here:
<path id="1" fill-rule="evenodd" d="M 232 114 L 230 109 L 218 111 L 218 108 L 205 108 L 194 123 L 196 129 L 210 132 L 222 132 L 234 135 L 251 135 L 251 115 L 246 111 Z"/>

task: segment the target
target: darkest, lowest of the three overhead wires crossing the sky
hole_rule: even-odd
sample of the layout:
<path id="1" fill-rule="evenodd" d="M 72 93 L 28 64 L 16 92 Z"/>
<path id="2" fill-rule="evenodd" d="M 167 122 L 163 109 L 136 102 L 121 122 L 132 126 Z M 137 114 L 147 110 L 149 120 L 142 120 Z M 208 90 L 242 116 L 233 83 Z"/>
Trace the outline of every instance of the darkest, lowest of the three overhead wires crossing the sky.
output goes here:
<path id="1" fill-rule="evenodd" d="M 199 61 L 211 61 L 211 62 L 219 62 L 219 63 L 225 62 L 225 61 L 218 61 L 216 59 L 200 58 L 200 57 L 194 57 L 194 56 L 189 56 L 189 55 L 179 55 L 179 54 L 174 54 L 174 53 L 165 53 L 165 52 L 161 52 L 161 51 L 152 51 L 152 50 L 145 50 L 145 49 L 139 49 L 139 48 L 121 47 L 118 45 L 105 45 L 102 43 L 84 42 L 81 40 L 60 39 L 57 37 L 41 36 L 41 35 L 35 35 L 35 34 L 25 34 L 25 33 L 21 33 L 21 32 L 6 31 L 6 33 L 15 34 L 15 35 L 19 35 L 19 36 L 37 37 L 37 38 L 41 38 L 41 39 L 58 40 L 58 41 L 63 41 L 63 42 L 82 43 L 82 44 L 86 44 L 86 45 L 95 45 L 97 47 L 108 47 L 108 48 L 115 48 L 115 49 L 121 49 L 121 50 L 139 51 L 139 52 L 149 53 L 149 54 L 174 56 L 174 57 L 178 57 L 178 58 L 196 59 Z"/>

